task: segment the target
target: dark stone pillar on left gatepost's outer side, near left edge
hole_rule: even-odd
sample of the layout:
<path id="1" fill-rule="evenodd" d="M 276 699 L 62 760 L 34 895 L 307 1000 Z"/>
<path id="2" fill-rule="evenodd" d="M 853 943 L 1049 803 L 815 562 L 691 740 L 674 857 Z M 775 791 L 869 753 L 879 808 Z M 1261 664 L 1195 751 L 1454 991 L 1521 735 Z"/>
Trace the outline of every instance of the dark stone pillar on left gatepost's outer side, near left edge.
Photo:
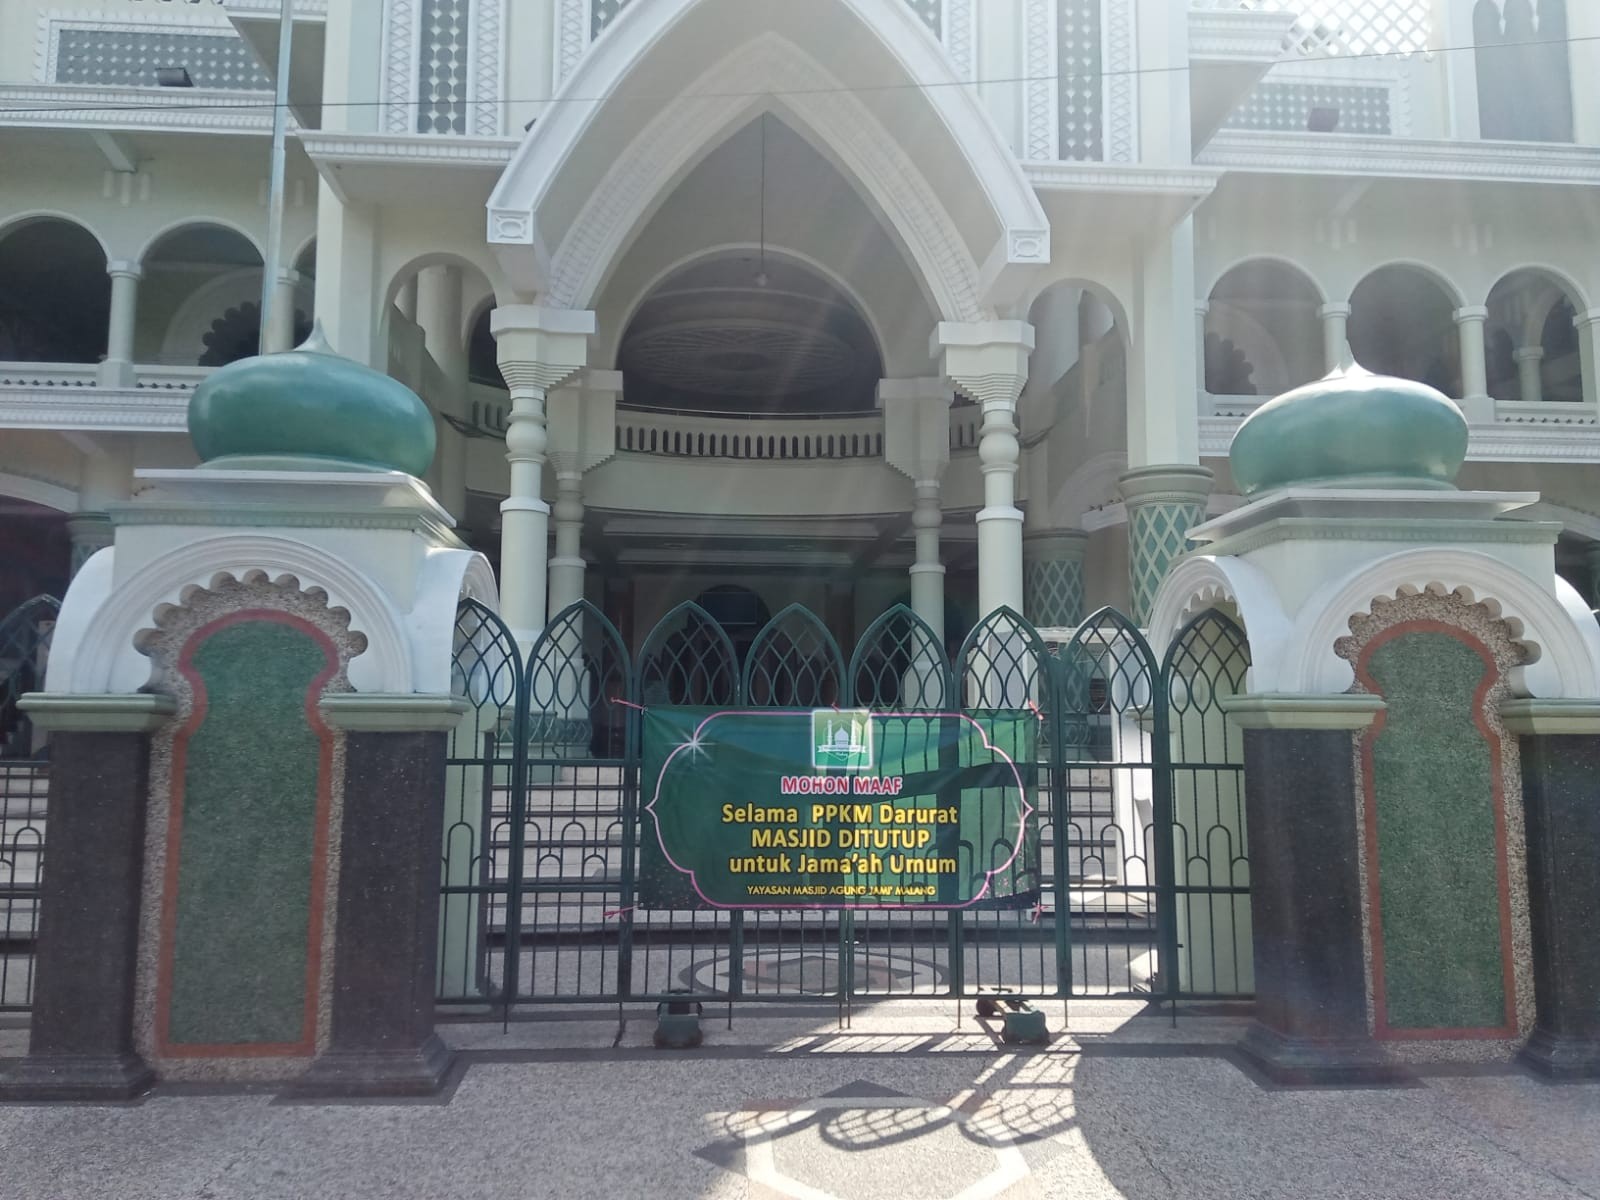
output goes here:
<path id="1" fill-rule="evenodd" d="M 27 1058 L 0 1077 L 0 1098 L 126 1099 L 154 1082 L 134 1051 L 133 992 L 150 734 L 174 706 L 32 693 L 21 707 L 51 731 L 50 869 Z"/>

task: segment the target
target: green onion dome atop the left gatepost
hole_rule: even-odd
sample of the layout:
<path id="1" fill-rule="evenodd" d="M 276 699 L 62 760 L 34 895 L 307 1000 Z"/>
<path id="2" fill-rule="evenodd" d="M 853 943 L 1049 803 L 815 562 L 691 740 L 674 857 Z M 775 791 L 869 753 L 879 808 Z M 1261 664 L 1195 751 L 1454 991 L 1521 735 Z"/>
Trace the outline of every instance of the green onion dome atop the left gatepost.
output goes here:
<path id="1" fill-rule="evenodd" d="M 211 467 L 403 470 L 434 461 L 434 418 L 398 379 L 334 354 L 312 330 L 285 354 L 218 368 L 189 400 L 189 437 Z"/>

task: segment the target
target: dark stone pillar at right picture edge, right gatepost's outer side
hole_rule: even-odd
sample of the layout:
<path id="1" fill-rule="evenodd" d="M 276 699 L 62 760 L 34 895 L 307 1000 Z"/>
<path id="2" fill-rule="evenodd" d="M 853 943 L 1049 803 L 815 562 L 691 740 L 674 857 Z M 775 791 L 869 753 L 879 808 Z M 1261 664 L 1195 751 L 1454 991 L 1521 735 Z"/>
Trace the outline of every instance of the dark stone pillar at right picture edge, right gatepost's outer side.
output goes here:
<path id="1" fill-rule="evenodd" d="M 1538 1022 L 1522 1061 L 1552 1078 L 1600 1078 L 1600 701 L 1501 706 L 1522 741 L 1528 917 Z"/>

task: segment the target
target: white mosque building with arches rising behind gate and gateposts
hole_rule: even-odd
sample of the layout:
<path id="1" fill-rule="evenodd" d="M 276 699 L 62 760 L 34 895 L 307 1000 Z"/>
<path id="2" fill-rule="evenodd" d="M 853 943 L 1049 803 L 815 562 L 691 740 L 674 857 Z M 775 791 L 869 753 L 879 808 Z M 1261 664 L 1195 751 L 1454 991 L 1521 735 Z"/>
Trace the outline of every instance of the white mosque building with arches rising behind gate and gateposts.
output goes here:
<path id="1" fill-rule="evenodd" d="M 1458 400 L 1595 603 L 1600 5 L 291 8 L 264 336 L 278 0 L 0 8 L 0 613 L 314 322 L 429 405 L 518 637 L 1144 621 L 1347 355 Z"/>

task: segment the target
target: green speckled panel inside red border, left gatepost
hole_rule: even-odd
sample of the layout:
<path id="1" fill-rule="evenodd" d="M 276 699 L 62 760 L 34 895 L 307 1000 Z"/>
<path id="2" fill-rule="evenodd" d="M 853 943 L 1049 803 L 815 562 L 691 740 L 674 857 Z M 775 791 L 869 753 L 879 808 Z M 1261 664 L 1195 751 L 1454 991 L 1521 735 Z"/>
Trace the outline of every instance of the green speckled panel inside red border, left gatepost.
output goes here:
<path id="1" fill-rule="evenodd" d="M 277 621 L 226 626 L 192 656 L 206 707 L 182 770 L 173 1045 L 294 1043 L 309 1034 L 322 742 L 306 701 L 328 666 L 309 634 Z"/>

